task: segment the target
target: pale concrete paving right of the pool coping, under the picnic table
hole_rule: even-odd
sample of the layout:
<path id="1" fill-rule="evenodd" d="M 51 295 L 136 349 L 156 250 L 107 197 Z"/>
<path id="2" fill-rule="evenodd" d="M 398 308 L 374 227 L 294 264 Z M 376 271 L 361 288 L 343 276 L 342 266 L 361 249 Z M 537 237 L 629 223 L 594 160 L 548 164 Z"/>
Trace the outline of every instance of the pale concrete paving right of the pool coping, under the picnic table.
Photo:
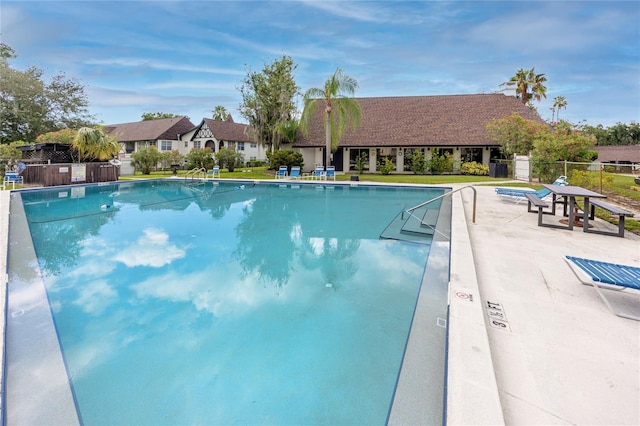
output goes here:
<path id="1" fill-rule="evenodd" d="M 610 313 L 564 260 L 573 255 L 638 266 L 640 238 L 541 228 L 537 216 L 527 213 L 526 203 L 503 202 L 493 187 L 475 188 L 475 224 L 472 191 L 460 194 L 478 281 L 476 309 L 480 305 L 485 314 L 504 422 L 640 424 L 640 322 Z M 561 219 L 556 218 L 545 216 L 548 221 Z M 599 219 L 593 224 L 615 229 Z M 458 272 L 452 270 L 452 277 Z M 639 296 L 612 297 L 640 314 Z M 451 299 L 454 315 L 468 306 L 455 295 Z M 487 302 L 502 308 L 503 321 L 489 320 Z M 469 352 L 463 363 L 473 360 L 473 349 Z M 453 373 L 454 366 L 449 368 Z M 450 424 L 487 423 L 482 416 L 474 421 L 474 410 L 482 413 L 484 408 L 469 406 L 469 412 L 449 417 Z"/>

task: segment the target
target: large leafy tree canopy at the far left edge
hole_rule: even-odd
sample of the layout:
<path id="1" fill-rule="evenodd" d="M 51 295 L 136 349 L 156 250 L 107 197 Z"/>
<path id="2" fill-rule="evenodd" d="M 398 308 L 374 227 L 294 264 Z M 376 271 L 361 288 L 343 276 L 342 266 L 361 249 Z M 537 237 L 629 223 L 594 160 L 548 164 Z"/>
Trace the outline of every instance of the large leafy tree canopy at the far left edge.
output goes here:
<path id="1" fill-rule="evenodd" d="M 35 66 L 12 68 L 9 61 L 15 57 L 10 46 L 0 43 L 0 143 L 33 142 L 43 133 L 95 121 L 82 83 L 64 73 L 45 82 L 44 72 Z"/>

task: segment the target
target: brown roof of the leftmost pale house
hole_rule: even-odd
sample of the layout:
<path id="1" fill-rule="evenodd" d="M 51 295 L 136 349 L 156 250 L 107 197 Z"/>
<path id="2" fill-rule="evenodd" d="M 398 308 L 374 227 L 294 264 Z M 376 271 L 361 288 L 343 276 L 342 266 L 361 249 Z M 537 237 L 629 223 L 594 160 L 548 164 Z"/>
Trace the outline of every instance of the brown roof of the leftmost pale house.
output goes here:
<path id="1" fill-rule="evenodd" d="M 114 135 L 118 142 L 177 140 L 179 134 L 186 133 L 193 127 L 193 123 L 187 117 L 161 118 L 103 126 L 104 131 Z"/>

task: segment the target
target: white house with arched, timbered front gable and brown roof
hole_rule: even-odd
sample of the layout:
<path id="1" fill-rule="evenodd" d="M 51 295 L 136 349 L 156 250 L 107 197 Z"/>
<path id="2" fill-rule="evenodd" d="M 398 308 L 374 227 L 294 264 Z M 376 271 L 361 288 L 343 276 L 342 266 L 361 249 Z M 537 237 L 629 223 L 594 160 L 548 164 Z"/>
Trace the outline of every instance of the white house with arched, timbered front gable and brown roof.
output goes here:
<path id="1" fill-rule="evenodd" d="M 244 161 L 267 159 L 265 147 L 249 136 L 249 126 L 234 123 L 231 115 L 227 120 L 204 118 L 200 124 L 180 135 L 185 148 L 209 148 L 218 152 L 221 148 L 232 148 L 244 155 Z"/>

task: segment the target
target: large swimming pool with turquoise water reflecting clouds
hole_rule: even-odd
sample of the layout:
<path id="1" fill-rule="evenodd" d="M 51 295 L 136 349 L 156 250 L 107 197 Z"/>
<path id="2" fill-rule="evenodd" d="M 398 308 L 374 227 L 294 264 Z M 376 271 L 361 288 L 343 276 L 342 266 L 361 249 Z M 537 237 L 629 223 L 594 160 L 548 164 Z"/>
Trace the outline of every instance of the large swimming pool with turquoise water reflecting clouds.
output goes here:
<path id="1" fill-rule="evenodd" d="M 446 318 L 432 238 L 398 217 L 442 192 L 169 179 L 12 194 L 9 422 L 384 424 L 418 295 Z M 443 327 L 434 339 L 425 399 L 441 418 Z"/>

